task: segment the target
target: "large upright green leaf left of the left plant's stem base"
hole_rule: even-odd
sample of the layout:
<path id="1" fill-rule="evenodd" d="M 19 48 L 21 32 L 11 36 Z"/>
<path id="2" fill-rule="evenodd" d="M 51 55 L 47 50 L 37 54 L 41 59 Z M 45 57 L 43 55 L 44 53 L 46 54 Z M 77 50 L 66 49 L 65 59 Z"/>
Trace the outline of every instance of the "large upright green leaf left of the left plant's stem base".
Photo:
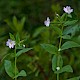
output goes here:
<path id="1" fill-rule="evenodd" d="M 5 60 L 4 63 L 6 73 L 13 78 L 14 77 L 14 68 L 12 67 L 11 61 Z"/>

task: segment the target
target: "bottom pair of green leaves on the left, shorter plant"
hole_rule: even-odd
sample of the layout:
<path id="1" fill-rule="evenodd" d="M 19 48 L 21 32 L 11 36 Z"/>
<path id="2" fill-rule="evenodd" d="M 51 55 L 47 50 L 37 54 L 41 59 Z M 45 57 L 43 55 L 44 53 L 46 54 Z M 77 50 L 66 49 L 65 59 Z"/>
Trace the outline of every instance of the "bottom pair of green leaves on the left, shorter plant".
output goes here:
<path id="1" fill-rule="evenodd" d="M 15 72 L 14 72 L 14 65 L 11 63 L 11 61 L 9 60 L 5 60 L 4 63 L 5 66 L 5 71 L 6 73 L 12 78 L 17 78 L 19 76 L 26 76 L 26 72 L 24 70 L 21 70 L 20 72 L 18 72 L 18 69 L 16 68 L 16 76 L 15 76 Z"/>

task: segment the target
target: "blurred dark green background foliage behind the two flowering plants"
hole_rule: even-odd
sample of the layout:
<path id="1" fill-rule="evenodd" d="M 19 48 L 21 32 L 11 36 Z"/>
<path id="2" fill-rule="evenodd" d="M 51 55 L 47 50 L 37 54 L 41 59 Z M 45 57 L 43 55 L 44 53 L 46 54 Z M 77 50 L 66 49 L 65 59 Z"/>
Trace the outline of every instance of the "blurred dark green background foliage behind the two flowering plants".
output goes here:
<path id="1" fill-rule="evenodd" d="M 58 45 L 58 38 L 53 31 L 44 26 L 47 16 L 55 19 L 55 13 L 62 15 L 63 7 L 70 5 L 74 9 L 73 19 L 80 20 L 80 0 L 0 0 L 0 80 L 11 80 L 4 70 L 4 60 L 13 59 L 12 51 L 6 47 L 9 33 L 19 32 L 21 40 L 26 38 L 26 47 L 33 50 L 24 53 L 17 60 L 19 70 L 25 69 L 27 77 L 19 80 L 55 80 L 51 69 L 52 55 L 45 52 L 41 43 Z M 16 17 L 15 17 L 16 16 Z M 14 22 L 17 21 L 16 25 Z M 19 25 L 20 24 L 20 25 Z M 72 40 L 80 44 L 80 24 L 74 30 L 68 30 Z M 4 57 L 7 54 L 7 57 Z M 70 64 L 74 73 L 60 75 L 61 80 L 80 75 L 80 48 L 63 52 L 64 65 Z"/>

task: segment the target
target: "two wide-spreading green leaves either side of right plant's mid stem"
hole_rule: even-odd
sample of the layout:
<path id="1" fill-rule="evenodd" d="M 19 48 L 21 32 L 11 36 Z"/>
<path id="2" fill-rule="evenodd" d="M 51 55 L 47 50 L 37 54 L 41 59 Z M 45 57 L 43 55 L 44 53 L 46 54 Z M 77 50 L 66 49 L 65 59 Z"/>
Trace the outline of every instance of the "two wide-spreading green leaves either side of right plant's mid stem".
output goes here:
<path id="1" fill-rule="evenodd" d="M 42 48 L 51 53 L 51 54 L 56 54 L 58 52 L 58 48 L 54 45 L 51 44 L 41 44 Z M 73 48 L 73 47 L 80 47 L 80 45 L 76 42 L 73 41 L 67 41 L 65 42 L 62 46 L 61 46 L 61 51 L 65 50 L 65 49 L 69 49 L 69 48 Z"/>

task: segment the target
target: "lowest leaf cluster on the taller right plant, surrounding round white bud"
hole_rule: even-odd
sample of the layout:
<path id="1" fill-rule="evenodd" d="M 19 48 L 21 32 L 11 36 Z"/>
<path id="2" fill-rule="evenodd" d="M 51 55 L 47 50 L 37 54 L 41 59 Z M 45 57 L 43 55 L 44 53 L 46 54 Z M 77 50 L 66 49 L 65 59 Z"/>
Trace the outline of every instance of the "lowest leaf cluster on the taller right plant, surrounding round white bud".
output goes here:
<path id="1" fill-rule="evenodd" d="M 60 70 L 57 71 L 57 67 L 60 67 Z M 61 55 L 54 55 L 52 58 L 52 70 L 54 73 L 63 73 L 63 72 L 73 72 L 70 65 L 63 67 L 63 59 Z"/>

